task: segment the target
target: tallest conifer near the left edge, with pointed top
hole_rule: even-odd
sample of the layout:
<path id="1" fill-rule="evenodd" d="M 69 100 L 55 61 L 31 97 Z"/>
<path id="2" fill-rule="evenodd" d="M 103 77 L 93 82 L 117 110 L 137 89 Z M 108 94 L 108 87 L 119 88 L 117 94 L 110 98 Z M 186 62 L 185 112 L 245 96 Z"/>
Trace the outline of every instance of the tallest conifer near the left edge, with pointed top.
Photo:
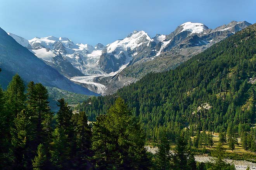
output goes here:
<path id="1" fill-rule="evenodd" d="M 3 119 L 6 122 L 3 124 L 3 126 L 5 126 L 5 144 L 9 143 L 12 145 L 9 145 L 9 148 L 3 149 L 3 156 L 5 158 L 6 156 L 9 156 L 15 162 L 13 163 L 14 167 L 20 168 L 24 166 L 24 161 L 22 160 L 22 156 L 24 155 L 24 146 L 22 145 L 22 141 L 20 141 L 22 136 L 17 136 L 18 134 L 22 134 L 22 132 L 16 129 L 16 125 L 18 125 L 18 114 L 20 114 L 20 112 L 25 109 L 24 101 L 26 100 L 26 95 L 24 94 L 24 90 L 25 85 L 21 77 L 16 74 L 13 76 L 12 81 L 7 87 L 7 90 L 4 92 L 5 104 Z M 19 115 L 20 118 L 22 116 L 24 115 Z M 25 122 L 23 123 L 25 124 Z M 24 142 L 26 143 L 27 141 L 25 140 Z M 3 145 L 3 147 L 8 147 L 8 145 Z M 22 150 L 22 152 L 19 152 L 19 150 Z M 9 158 L 7 158 L 7 160 L 8 159 Z"/>

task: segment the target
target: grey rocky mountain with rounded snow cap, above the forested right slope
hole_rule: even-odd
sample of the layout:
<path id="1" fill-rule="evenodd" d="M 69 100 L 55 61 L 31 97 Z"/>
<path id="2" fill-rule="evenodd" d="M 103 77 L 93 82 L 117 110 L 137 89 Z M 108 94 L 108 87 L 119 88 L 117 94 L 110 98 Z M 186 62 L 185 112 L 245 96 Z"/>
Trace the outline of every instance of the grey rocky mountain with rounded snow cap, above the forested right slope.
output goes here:
<path id="1" fill-rule="evenodd" d="M 149 72 L 173 69 L 249 25 L 246 21 L 232 21 L 216 29 L 209 29 L 201 23 L 186 22 L 168 35 L 157 34 L 147 44 L 142 44 L 133 53 L 133 58 L 124 70 L 115 76 L 102 78 L 99 82 L 107 87 L 106 93 L 113 93 Z"/>

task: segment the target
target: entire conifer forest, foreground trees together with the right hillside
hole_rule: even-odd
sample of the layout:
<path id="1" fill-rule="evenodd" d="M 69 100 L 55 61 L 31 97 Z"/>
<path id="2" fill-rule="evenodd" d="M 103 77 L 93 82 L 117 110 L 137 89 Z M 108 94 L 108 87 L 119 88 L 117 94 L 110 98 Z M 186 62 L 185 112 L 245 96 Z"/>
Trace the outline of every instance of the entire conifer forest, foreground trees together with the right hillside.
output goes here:
<path id="1" fill-rule="evenodd" d="M 78 111 L 59 99 L 54 114 L 47 89 L 15 75 L 0 89 L 0 168 L 234 169 L 223 161 L 223 143 L 233 150 L 240 137 L 256 152 L 255 79 L 255 24 L 175 70 L 91 97 Z M 195 162 L 192 148 L 211 147 L 213 132 L 220 133 L 213 162 Z M 147 143 L 156 143 L 156 154 Z"/>

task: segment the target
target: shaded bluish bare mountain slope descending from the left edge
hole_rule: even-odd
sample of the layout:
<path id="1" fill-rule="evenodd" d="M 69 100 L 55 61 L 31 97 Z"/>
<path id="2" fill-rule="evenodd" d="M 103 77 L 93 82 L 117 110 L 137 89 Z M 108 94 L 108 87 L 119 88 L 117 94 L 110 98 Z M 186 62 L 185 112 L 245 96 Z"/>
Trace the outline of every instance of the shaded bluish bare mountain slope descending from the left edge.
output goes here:
<path id="1" fill-rule="evenodd" d="M 74 84 L 57 70 L 45 64 L 28 49 L 21 46 L 0 28 L 0 84 L 5 88 L 18 73 L 25 82 L 34 81 L 45 86 L 70 92 L 97 95 L 87 88 Z"/>

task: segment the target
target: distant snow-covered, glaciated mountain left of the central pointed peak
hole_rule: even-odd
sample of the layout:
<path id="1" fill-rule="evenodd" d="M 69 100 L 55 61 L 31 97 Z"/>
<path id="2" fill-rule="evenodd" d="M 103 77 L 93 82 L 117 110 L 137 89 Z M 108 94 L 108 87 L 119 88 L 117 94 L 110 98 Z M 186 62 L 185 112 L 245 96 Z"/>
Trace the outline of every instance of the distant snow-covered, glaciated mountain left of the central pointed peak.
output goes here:
<path id="1" fill-rule="evenodd" d="M 89 44 L 74 44 L 73 41 L 66 37 L 35 37 L 29 40 L 31 44 L 31 51 L 49 63 L 55 62 L 56 56 L 62 56 L 63 61 L 69 62 L 74 68 L 72 69 L 74 74 L 68 75 L 69 70 L 64 70 L 65 76 L 71 78 L 73 76 L 83 75 L 102 75 L 104 71 L 98 66 L 98 61 L 104 48 L 103 44 L 97 44 L 95 48 Z M 57 67 L 58 64 L 54 63 L 53 67 Z M 71 68 L 71 67 L 69 67 Z M 74 71 L 77 70 L 77 71 Z M 79 73 L 78 73 L 79 71 Z"/>

